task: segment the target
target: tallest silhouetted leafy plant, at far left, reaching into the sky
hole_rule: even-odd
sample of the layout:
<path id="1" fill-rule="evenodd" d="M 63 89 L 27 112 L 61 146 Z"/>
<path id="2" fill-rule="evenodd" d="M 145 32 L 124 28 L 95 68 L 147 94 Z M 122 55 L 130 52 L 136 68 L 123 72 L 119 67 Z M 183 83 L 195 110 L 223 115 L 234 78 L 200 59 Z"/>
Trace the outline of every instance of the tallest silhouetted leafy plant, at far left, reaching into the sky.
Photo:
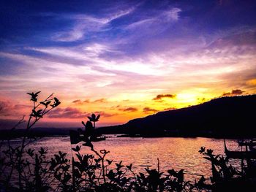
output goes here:
<path id="1" fill-rule="evenodd" d="M 28 149 L 26 147 L 32 142 L 37 141 L 37 138 L 31 134 L 31 128 L 37 123 L 37 121 L 43 118 L 44 115 L 48 114 L 53 108 L 57 107 L 61 102 L 56 97 L 53 98 L 53 93 L 50 94 L 45 100 L 37 102 L 38 95 L 37 93 L 28 93 L 31 96 L 31 101 L 33 101 L 33 107 L 29 115 L 29 120 L 26 123 L 26 129 L 24 131 L 23 138 L 21 140 L 21 145 L 17 147 L 10 144 L 10 139 L 12 135 L 15 134 L 15 129 L 22 123 L 25 123 L 24 117 L 10 129 L 9 137 L 7 138 L 7 146 L 0 146 L 0 150 L 3 153 L 1 155 L 1 185 L 8 190 L 10 188 L 10 181 L 14 175 L 18 174 L 18 188 L 20 191 L 25 190 L 26 188 L 31 188 L 31 176 L 33 174 L 36 183 L 42 184 L 43 180 L 39 179 L 39 172 L 45 171 L 42 168 L 42 164 L 45 163 L 43 159 L 45 158 L 45 150 L 41 149 L 38 151 L 39 155 L 34 154 L 34 150 Z M 52 101 L 54 100 L 53 104 Z M 50 104 L 50 106 L 49 106 Z M 4 148 L 4 149 L 2 149 Z M 29 157 L 25 155 L 27 153 L 30 158 L 34 159 L 34 172 L 31 170 L 32 161 L 29 161 Z M 15 172 L 15 173 L 14 173 Z M 40 180 L 40 182 L 39 182 Z M 39 187 L 39 185 L 37 185 Z"/>

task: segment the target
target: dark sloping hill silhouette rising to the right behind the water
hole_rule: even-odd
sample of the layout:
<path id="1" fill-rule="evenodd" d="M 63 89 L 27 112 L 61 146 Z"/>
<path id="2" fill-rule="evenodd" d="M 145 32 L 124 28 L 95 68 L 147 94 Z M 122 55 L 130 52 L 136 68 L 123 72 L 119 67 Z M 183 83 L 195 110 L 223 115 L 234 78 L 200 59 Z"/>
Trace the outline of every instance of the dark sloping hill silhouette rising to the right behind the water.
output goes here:
<path id="1" fill-rule="evenodd" d="M 232 96 L 158 112 L 98 131 L 143 137 L 256 137 L 255 120 L 256 95 Z"/>

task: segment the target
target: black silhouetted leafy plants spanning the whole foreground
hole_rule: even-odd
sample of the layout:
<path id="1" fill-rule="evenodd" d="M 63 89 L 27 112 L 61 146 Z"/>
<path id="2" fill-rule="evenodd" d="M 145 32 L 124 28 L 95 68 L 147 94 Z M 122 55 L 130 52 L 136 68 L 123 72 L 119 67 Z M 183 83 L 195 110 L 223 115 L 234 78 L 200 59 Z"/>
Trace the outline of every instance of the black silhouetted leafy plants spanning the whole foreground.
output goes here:
<path id="1" fill-rule="evenodd" d="M 255 170 L 245 169 L 238 172 L 228 164 L 222 155 L 214 155 L 213 150 L 201 147 L 199 153 L 211 161 L 213 175 L 211 182 L 201 177 L 195 182 L 184 180 L 184 169 L 160 170 L 146 169 L 145 173 L 136 173 L 132 164 L 122 161 L 114 164 L 108 159 L 108 150 L 94 150 L 95 123 L 99 115 L 91 115 L 82 122 L 85 129 L 72 131 L 71 143 L 74 156 L 59 153 L 48 158 L 45 149 L 35 151 L 31 143 L 37 137 L 30 131 L 37 121 L 60 104 L 59 99 L 50 95 L 44 101 L 37 101 L 37 93 L 29 93 L 33 108 L 29 120 L 23 118 L 10 130 L 10 137 L 1 141 L 0 150 L 0 188 L 2 191 L 253 191 L 255 189 Z M 11 136 L 16 127 L 26 123 L 21 142 L 11 145 Z M 91 154 L 80 153 L 81 147 L 89 147 Z"/>

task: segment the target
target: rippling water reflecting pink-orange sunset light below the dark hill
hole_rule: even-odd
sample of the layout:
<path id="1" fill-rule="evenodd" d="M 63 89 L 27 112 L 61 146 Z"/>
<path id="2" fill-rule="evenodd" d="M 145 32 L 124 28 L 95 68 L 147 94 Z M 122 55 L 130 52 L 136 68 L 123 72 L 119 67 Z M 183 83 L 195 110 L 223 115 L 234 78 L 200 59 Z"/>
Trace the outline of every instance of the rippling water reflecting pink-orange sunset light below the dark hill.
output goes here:
<path id="1" fill-rule="evenodd" d="M 59 150 L 72 156 L 69 137 L 46 137 L 33 144 L 33 147 L 45 147 L 49 156 Z M 145 172 L 146 167 L 157 168 L 157 158 L 160 169 L 184 169 L 187 180 L 211 176 L 210 161 L 198 153 L 201 146 L 211 148 L 215 154 L 224 153 L 223 139 L 208 138 L 129 138 L 112 137 L 105 141 L 94 142 L 97 150 L 110 150 L 107 159 L 114 162 L 123 161 L 124 165 L 133 164 L 135 172 Z M 238 150 L 236 140 L 227 140 L 229 149 Z M 75 147 L 73 145 L 72 147 Z M 82 153 L 91 153 L 89 147 L 82 147 Z M 73 152 L 73 155 L 75 153 Z M 239 168 L 239 161 L 231 161 Z"/>

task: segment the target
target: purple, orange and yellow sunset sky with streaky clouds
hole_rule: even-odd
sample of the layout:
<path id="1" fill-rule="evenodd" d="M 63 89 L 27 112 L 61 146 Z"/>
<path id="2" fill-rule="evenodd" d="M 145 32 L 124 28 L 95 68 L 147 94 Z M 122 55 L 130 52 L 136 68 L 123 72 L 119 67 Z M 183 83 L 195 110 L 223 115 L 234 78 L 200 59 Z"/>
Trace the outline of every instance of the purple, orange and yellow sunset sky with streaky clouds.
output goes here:
<path id="1" fill-rule="evenodd" d="M 42 126 L 66 127 L 253 94 L 255 53 L 255 1 L 1 1 L 0 121 L 31 91 L 61 101 Z"/>

